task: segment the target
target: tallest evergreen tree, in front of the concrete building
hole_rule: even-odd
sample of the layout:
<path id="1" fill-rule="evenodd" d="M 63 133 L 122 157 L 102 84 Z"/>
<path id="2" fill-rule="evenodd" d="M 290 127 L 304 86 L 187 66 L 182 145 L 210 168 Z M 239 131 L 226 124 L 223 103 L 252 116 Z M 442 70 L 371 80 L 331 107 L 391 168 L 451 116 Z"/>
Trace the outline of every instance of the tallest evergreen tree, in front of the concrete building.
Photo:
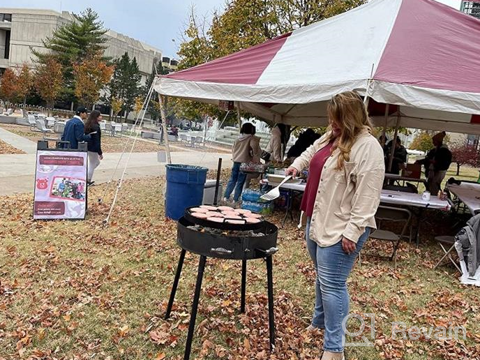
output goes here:
<path id="1" fill-rule="evenodd" d="M 33 50 L 37 62 L 45 64 L 51 55 L 54 56 L 63 68 L 63 89 L 64 100 L 75 100 L 73 79 L 73 64 L 81 63 L 94 54 L 103 54 L 106 46 L 103 22 L 98 20 L 98 14 L 87 8 L 80 15 L 73 15 L 75 20 L 56 29 L 52 36 L 43 40 L 43 46 L 48 53 L 41 53 Z M 103 58 L 103 60 L 108 60 Z"/>

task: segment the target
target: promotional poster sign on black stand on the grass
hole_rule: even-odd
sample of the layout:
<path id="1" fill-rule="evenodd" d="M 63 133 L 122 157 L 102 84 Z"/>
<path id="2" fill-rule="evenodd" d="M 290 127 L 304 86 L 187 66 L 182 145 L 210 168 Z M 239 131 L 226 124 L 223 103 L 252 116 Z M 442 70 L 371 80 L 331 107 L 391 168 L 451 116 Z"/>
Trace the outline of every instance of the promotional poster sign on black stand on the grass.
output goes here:
<path id="1" fill-rule="evenodd" d="M 37 145 L 33 218 L 80 219 L 87 211 L 87 144 L 79 149 Z"/>

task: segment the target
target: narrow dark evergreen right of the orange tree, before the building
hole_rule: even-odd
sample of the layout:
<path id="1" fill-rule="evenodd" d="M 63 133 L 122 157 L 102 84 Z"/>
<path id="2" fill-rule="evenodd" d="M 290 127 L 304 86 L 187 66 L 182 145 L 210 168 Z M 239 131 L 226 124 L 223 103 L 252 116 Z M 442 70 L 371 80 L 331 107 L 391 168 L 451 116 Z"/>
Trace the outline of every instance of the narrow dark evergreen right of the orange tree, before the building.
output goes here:
<path id="1" fill-rule="evenodd" d="M 108 96 L 107 102 L 112 104 L 112 99 L 120 100 L 121 111 L 126 112 L 125 118 L 127 118 L 128 113 L 133 110 L 135 98 L 142 93 L 140 87 L 142 75 L 140 75 L 137 59 L 134 57 L 130 61 L 128 52 L 123 54 L 120 59 L 115 59 L 114 66 L 115 70 L 109 84 L 110 96 Z"/>

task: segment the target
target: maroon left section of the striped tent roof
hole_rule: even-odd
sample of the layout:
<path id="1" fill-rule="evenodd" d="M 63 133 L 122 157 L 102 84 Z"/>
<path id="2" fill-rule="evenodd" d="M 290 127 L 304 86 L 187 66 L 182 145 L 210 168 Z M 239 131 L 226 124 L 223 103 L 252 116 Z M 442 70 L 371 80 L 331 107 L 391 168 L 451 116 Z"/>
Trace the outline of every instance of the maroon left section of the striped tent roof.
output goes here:
<path id="1" fill-rule="evenodd" d="M 256 84 L 290 34 L 286 33 L 266 43 L 249 47 L 194 68 L 172 73 L 166 77 L 189 82 Z"/>

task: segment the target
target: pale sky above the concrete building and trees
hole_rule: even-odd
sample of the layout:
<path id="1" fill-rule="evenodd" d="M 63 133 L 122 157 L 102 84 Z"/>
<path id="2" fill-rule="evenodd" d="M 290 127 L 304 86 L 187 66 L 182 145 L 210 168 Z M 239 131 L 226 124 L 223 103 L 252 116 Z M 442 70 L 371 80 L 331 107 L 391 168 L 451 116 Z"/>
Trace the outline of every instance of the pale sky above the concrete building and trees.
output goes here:
<path id="1" fill-rule="evenodd" d="M 460 8 L 460 0 L 439 0 Z M 2 7 L 43 8 L 80 13 L 96 10 L 105 27 L 158 47 L 164 56 L 176 58 L 181 33 L 192 6 L 195 13 L 211 20 L 215 10 L 223 10 L 225 0 L 1 0 Z"/>

